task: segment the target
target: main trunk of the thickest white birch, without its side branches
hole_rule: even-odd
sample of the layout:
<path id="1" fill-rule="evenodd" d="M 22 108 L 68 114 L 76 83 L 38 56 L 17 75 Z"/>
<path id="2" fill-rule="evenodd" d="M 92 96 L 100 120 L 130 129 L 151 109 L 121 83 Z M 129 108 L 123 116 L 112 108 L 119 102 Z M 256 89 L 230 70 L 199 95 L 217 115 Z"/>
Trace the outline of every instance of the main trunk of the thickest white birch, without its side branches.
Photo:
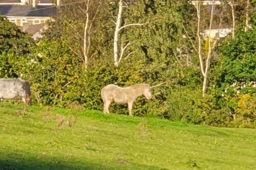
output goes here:
<path id="1" fill-rule="evenodd" d="M 118 42 L 118 33 L 119 33 L 119 28 L 121 24 L 121 16 L 122 16 L 122 10 L 123 10 L 123 0 L 119 1 L 119 8 L 118 8 L 118 14 L 117 14 L 117 22 L 116 22 L 116 29 L 115 29 L 115 34 L 114 34 L 114 65 L 117 67 L 119 64 L 118 60 L 118 49 L 117 49 L 117 42 Z"/>

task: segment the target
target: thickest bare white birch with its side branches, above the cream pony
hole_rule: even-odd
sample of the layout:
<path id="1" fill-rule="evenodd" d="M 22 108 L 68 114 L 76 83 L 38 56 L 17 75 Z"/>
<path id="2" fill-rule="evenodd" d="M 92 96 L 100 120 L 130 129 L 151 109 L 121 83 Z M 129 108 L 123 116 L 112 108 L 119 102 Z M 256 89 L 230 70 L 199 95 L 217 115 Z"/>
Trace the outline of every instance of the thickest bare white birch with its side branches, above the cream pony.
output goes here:
<path id="1" fill-rule="evenodd" d="M 115 22 L 116 28 L 115 28 L 115 32 L 114 32 L 114 42 L 113 42 L 113 55 L 114 55 L 114 65 L 117 67 L 119 65 L 119 63 L 121 62 L 123 55 L 124 55 L 124 50 L 131 45 L 131 43 L 127 43 L 125 46 L 123 44 L 123 42 L 121 43 L 121 52 L 120 54 L 118 54 L 118 40 L 119 40 L 119 32 L 128 26 L 134 26 L 134 25 L 143 25 L 143 24 L 128 24 L 128 25 L 123 25 L 121 26 L 121 18 L 122 18 L 122 12 L 123 12 L 123 8 L 126 7 L 124 6 L 123 0 L 119 1 L 119 5 L 118 5 L 118 14 L 117 14 L 117 21 Z M 130 56 L 132 54 L 129 53 L 127 55 Z"/>

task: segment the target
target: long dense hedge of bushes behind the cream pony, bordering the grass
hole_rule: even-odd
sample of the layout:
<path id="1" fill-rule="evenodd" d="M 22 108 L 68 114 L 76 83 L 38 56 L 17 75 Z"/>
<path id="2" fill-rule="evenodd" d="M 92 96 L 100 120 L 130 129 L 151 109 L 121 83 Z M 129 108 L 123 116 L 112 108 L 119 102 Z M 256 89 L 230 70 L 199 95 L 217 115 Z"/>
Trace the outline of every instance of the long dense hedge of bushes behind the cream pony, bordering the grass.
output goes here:
<path id="1" fill-rule="evenodd" d="M 167 86 L 152 90 L 151 101 L 143 97 L 136 100 L 133 108 L 135 115 L 157 116 L 193 124 L 255 127 L 255 107 L 250 104 L 255 102 L 253 89 L 248 91 L 249 96 L 235 94 L 232 89 L 227 93 L 230 95 L 222 96 L 222 86 L 216 85 L 218 88 L 212 88 L 203 98 L 199 86 L 200 71 L 194 67 L 183 68 L 170 61 L 171 67 L 163 69 L 154 67 L 159 61 L 148 64 L 143 58 L 131 58 L 129 62 L 123 62 L 121 67 L 114 67 L 112 60 L 102 58 L 91 59 L 89 69 L 85 71 L 80 59 L 73 55 L 66 44 L 43 41 L 31 49 L 29 57 L 9 55 L 8 60 L 12 71 L 31 83 L 35 103 L 55 106 L 77 103 L 87 109 L 102 110 L 100 90 L 107 84 L 155 85 L 166 81 Z M 212 75 L 219 75 L 218 71 L 221 70 Z M 110 111 L 128 113 L 126 105 L 114 103 Z"/>

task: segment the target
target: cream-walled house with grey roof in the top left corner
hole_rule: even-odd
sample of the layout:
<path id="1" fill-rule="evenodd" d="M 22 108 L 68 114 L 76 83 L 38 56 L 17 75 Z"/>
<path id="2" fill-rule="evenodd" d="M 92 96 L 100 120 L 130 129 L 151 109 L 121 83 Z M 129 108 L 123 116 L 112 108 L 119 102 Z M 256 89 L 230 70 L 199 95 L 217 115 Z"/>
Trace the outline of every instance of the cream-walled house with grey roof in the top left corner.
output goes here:
<path id="1" fill-rule="evenodd" d="M 36 40 L 47 29 L 46 22 L 54 21 L 59 6 L 59 0 L 57 4 L 51 0 L 0 0 L 0 13 Z"/>

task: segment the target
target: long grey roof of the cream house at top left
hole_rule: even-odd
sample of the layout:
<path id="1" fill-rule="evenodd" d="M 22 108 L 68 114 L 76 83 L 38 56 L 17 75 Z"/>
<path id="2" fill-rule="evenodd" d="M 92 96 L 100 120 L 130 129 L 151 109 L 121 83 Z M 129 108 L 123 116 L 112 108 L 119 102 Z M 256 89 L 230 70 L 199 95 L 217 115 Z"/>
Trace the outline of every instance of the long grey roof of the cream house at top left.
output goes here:
<path id="1" fill-rule="evenodd" d="M 57 7 L 40 6 L 32 7 L 30 5 L 4 5 L 0 6 L 0 13 L 5 16 L 15 17 L 51 17 L 56 15 Z"/>

